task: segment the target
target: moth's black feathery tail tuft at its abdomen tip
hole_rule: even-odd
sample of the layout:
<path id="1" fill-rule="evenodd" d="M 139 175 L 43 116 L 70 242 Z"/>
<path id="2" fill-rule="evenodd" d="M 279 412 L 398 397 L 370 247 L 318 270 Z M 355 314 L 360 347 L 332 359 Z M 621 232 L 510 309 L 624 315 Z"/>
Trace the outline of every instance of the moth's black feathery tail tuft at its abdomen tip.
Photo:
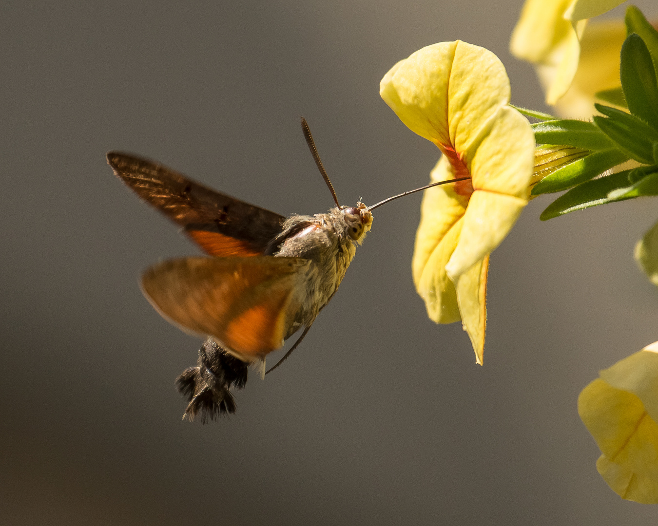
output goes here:
<path id="1" fill-rule="evenodd" d="M 201 423 L 236 412 L 230 388 L 242 389 L 247 383 L 247 364 L 228 354 L 209 338 L 199 349 L 197 367 L 176 378 L 178 393 L 189 401 L 183 418 L 193 421 L 201 413 Z"/>

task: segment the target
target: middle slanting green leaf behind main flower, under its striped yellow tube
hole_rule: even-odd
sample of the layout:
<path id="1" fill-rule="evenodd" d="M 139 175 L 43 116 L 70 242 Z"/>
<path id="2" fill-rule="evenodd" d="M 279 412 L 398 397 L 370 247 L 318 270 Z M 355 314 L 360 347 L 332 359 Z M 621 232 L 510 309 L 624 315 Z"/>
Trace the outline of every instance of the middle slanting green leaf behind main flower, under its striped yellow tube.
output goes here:
<path id="1" fill-rule="evenodd" d="M 592 153 L 546 176 L 534 185 L 531 195 L 561 192 L 584 183 L 584 181 L 589 181 L 626 160 L 628 160 L 628 155 L 616 148 Z"/>

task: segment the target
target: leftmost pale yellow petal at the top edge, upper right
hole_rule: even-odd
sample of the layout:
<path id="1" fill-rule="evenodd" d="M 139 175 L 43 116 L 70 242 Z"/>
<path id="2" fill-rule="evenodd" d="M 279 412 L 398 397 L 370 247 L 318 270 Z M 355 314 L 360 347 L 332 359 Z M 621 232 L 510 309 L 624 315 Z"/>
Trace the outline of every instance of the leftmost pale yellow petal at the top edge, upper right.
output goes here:
<path id="1" fill-rule="evenodd" d="M 564 14 L 572 0 L 527 0 L 512 32 L 509 50 L 518 59 L 536 64 L 567 36 L 571 28 Z"/>

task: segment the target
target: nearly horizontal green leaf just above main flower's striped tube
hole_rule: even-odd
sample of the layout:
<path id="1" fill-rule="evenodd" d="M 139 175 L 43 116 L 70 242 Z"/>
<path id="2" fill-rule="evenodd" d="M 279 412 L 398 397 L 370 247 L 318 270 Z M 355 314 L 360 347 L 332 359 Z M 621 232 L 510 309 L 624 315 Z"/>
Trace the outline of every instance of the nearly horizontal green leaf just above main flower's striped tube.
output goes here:
<path id="1" fill-rule="evenodd" d="M 615 147 L 605 133 L 593 122 L 584 120 L 549 120 L 532 124 L 538 144 L 564 144 L 592 151 L 609 150 Z"/>

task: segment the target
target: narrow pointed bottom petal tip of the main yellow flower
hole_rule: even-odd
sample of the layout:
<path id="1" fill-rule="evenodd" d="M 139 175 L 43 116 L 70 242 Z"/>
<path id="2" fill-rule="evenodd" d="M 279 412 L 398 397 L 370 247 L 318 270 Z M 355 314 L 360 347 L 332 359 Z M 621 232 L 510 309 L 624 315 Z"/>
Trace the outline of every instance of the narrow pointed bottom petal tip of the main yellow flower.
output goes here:
<path id="1" fill-rule="evenodd" d="M 459 276 L 455 284 L 463 328 L 475 351 L 475 362 L 480 365 L 484 360 L 484 333 L 487 325 L 488 271 L 489 255 Z"/>

